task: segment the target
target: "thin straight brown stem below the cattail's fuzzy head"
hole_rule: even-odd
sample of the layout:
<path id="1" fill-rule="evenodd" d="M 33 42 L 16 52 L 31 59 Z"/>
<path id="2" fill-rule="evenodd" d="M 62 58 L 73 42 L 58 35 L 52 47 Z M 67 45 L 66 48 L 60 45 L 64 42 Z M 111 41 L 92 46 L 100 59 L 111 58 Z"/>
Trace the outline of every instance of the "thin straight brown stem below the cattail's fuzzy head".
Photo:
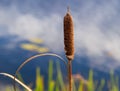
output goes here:
<path id="1" fill-rule="evenodd" d="M 69 79 L 69 91 L 72 91 L 72 64 L 68 61 L 68 79 Z"/>

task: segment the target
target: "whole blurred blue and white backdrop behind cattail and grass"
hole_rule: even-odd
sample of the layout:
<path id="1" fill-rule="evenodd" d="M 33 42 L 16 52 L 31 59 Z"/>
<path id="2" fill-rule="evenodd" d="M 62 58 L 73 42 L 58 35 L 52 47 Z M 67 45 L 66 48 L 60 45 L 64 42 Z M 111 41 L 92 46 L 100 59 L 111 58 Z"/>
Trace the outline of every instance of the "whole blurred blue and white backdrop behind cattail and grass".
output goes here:
<path id="1" fill-rule="evenodd" d="M 75 59 L 73 74 L 109 80 L 110 71 L 120 76 L 119 0 L 0 0 L 0 72 L 14 74 L 27 58 L 38 53 L 56 53 L 65 58 L 63 17 L 70 6 L 74 21 Z M 26 84 L 35 82 L 36 67 L 47 79 L 49 60 L 41 57 L 22 70 Z M 64 77 L 67 75 L 60 63 Z M 56 72 L 54 72 L 55 75 Z M 0 76 L 0 88 L 12 84 Z"/>

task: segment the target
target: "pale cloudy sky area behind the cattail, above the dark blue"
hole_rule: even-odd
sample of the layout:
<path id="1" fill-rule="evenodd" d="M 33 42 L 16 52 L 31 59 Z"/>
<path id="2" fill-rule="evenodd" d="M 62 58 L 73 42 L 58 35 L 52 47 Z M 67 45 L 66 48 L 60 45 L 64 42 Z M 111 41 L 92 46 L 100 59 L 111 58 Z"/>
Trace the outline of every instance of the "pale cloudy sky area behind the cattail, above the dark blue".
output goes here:
<path id="1" fill-rule="evenodd" d="M 42 38 L 53 52 L 63 52 L 63 17 L 68 5 L 76 55 L 100 60 L 99 65 L 106 56 L 112 57 L 119 66 L 119 0 L 0 0 L 0 36 L 17 35 L 18 41 Z"/>

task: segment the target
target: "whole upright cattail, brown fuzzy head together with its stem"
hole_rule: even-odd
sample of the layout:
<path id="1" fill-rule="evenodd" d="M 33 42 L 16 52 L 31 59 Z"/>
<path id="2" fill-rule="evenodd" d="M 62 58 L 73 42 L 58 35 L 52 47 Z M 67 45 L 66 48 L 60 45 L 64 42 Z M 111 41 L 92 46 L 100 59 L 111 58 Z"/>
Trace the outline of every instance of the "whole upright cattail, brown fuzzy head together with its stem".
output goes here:
<path id="1" fill-rule="evenodd" d="M 69 91 L 73 90 L 72 87 L 72 65 L 71 62 L 74 59 L 74 28 L 72 16 L 68 11 L 64 17 L 64 49 L 68 59 L 68 79 L 69 79 Z"/>

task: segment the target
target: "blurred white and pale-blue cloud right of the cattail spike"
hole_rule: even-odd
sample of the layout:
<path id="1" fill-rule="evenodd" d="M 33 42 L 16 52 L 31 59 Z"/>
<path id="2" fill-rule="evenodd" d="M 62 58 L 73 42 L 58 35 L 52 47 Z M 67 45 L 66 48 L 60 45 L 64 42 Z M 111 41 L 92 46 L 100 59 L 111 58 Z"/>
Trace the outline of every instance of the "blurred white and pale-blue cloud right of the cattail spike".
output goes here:
<path id="1" fill-rule="evenodd" d="M 104 65 L 106 56 L 120 62 L 120 15 L 117 4 L 117 0 L 98 6 L 88 3 L 87 7 L 83 6 L 82 13 L 75 15 L 76 52 L 82 55 L 80 51 L 83 52 L 84 48 L 84 54 L 94 61 L 91 63 L 94 66 Z M 106 66 L 117 67 L 117 62 L 115 65 L 107 63 Z"/>

